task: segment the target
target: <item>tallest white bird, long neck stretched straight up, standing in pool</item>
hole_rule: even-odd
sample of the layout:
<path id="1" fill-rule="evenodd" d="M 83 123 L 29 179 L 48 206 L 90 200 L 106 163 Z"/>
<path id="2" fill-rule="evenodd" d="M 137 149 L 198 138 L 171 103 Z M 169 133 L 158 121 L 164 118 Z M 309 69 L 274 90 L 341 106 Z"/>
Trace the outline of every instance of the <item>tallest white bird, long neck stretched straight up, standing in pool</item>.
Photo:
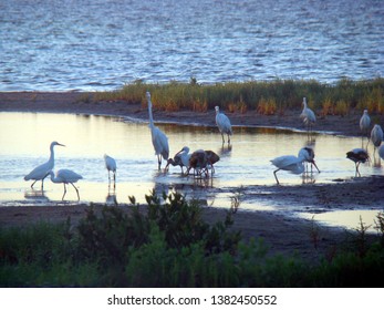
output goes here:
<path id="1" fill-rule="evenodd" d="M 155 155 L 157 155 L 158 169 L 162 167 L 162 157 L 167 161 L 169 156 L 169 145 L 167 136 L 154 124 L 154 118 L 152 115 L 152 101 L 151 93 L 146 92 L 146 97 L 148 101 L 148 114 L 149 114 L 149 128 L 152 134 L 152 144 L 155 148 Z"/>

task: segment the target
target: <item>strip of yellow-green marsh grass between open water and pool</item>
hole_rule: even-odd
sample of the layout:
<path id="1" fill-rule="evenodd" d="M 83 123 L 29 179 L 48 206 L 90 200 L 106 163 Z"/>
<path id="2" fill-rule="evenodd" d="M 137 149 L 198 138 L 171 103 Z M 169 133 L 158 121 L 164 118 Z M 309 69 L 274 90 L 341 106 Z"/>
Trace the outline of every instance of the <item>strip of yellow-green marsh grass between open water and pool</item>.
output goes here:
<path id="1" fill-rule="evenodd" d="M 350 111 L 367 108 L 370 113 L 384 113 L 384 79 L 352 81 L 335 84 L 314 80 L 276 80 L 271 82 L 227 82 L 199 84 L 169 82 L 151 84 L 136 81 L 114 92 L 97 92 L 94 101 L 126 101 L 146 106 L 145 92 L 152 93 L 155 108 L 165 111 L 190 110 L 206 112 L 216 105 L 229 112 L 245 113 L 256 110 L 260 114 L 283 113 L 301 108 L 302 97 L 319 114 L 346 115 Z"/>

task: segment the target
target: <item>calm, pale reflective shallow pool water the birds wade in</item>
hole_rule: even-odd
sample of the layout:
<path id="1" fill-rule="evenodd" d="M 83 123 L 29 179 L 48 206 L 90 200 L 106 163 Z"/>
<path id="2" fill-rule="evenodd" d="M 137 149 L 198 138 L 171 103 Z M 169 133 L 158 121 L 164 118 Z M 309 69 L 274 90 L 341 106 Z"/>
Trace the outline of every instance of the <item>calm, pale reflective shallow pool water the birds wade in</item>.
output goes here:
<path id="1" fill-rule="evenodd" d="M 212 112 L 214 117 L 214 112 Z M 198 198 L 208 205 L 229 207 L 233 187 L 247 185 L 268 186 L 276 184 L 273 166 L 270 159 L 276 156 L 297 154 L 307 145 L 305 133 L 276 131 L 271 128 L 235 127 L 232 146 L 221 146 L 221 136 L 216 127 L 166 125 L 158 126 L 169 138 L 170 154 L 187 145 L 190 149 L 211 149 L 220 155 L 216 174 L 209 182 L 199 182 L 180 175 L 179 167 L 170 167 L 169 173 L 157 170 L 151 131 L 146 123 L 132 122 L 106 116 L 85 116 L 72 114 L 44 113 L 0 113 L 0 207 L 22 205 L 62 204 L 63 186 L 48 178 L 44 193 L 31 190 L 31 182 L 23 180 L 32 168 L 49 158 L 49 145 L 52 141 L 65 144 L 55 147 L 55 170 L 70 168 L 81 174 L 76 185 L 82 203 L 114 202 L 127 204 L 128 196 L 145 202 L 145 195 L 155 189 L 157 193 L 179 190 L 189 198 Z M 316 163 L 321 174 L 303 179 L 286 172 L 279 173 L 284 185 L 300 185 L 315 182 L 331 183 L 335 178 L 354 176 L 354 164 L 345 158 L 345 151 L 361 146 L 361 138 L 318 134 L 313 142 Z M 117 162 L 116 189 L 108 186 L 104 154 Z M 382 175 L 381 165 L 361 165 L 362 176 Z M 303 185 L 308 186 L 308 185 Z M 40 189 L 37 183 L 35 189 Z M 266 193 L 268 194 L 268 193 Z M 76 203 L 76 194 L 68 188 L 65 203 Z M 307 206 L 308 207 L 308 206 Z M 310 206 L 309 206 L 310 207 Z M 252 199 L 245 202 L 241 208 L 253 210 L 282 211 L 310 218 L 308 208 L 273 204 L 269 200 Z M 338 210 L 338 209 L 336 209 Z M 333 213 L 323 210 L 316 219 L 332 225 L 357 227 L 359 213 Z M 371 220 L 375 211 L 371 213 Z M 346 216 L 347 215 L 347 216 Z M 339 218 L 339 219 L 338 219 Z M 346 220 L 350 218 L 350 220 Z"/>

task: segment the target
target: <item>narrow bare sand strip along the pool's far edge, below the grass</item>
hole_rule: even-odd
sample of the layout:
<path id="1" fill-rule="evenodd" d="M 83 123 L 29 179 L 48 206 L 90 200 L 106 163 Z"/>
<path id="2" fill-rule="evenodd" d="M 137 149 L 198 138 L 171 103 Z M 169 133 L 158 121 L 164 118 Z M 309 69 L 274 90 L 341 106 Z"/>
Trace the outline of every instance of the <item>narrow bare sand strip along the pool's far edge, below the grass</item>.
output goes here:
<path id="1" fill-rule="evenodd" d="M 84 95 L 87 96 L 87 100 L 84 100 Z M 105 115 L 128 117 L 141 122 L 147 122 L 148 120 L 146 106 L 143 107 L 141 104 L 124 101 L 93 102 L 93 94 L 89 92 L 0 92 L 0 112 Z M 299 117 L 300 113 L 301 108 L 284 111 L 282 115 L 261 115 L 256 111 L 248 111 L 243 114 L 226 111 L 233 127 L 272 127 L 305 132 L 305 126 Z M 362 112 L 353 111 L 347 116 L 318 115 L 314 132 L 319 134 L 361 136 L 359 127 L 361 114 Z M 154 116 L 157 123 L 216 126 L 214 110 L 208 112 L 154 110 Z M 183 118 L 181 122 L 180 118 Z M 375 121 L 384 123 L 384 117 L 376 115 Z"/>

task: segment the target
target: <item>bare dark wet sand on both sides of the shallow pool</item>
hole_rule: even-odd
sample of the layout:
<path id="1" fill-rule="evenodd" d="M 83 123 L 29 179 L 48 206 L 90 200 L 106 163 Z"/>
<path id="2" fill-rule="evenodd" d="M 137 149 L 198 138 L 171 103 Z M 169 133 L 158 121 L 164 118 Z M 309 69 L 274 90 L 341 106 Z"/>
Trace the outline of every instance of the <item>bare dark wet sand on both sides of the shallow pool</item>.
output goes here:
<path id="1" fill-rule="evenodd" d="M 91 94 L 92 97 L 92 94 Z M 68 93 L 1 93 L 0 112 L 49 112 L 49 113 L 72 113 L 72 114 L 94 114 L 115 115 L 134 117 L 147 121 L 147 110 L 139 104 L 127 104 L 125 102 L 90 102 L 83 101 L 84 95 L 76 92 Z M 255 111 L 246 114 L 227 113 L 233 126 L 272 126 L 287 127 L 302 131 L 304 126 L 299 118 L 301 110 L 286 111 L 283 115 L 260 115 Z M 351 113 L 349 116 L 326 116 L 318 117 L 314 130 L 332 134 L 346 136 L 359 136 L 359 120 L 361 113 Z M 155 120 L 159 122 L 177 123 L 183 120 L 186 124 L 201 124 L 215 126 L 215 112 L 195 113 L 190 111 L 163 112 L 154 111 Z M 384 124 L 382 116 L 377 116 Z M 383 121 L 383 122 L 382 122 Z M 236 134 L 236 130 L 235 130 Z M 243 195 L 242 199 L 255 199 L 255 193 L 262 192 L 262 186 L 253 186 L 247 190 L 253 194 Z M 271 202 L 308 205 L 311 208 L 326 206 L 330 210 L 349 209 L 353 206 L 384 206 L 384 177 L 372 176 L 365 178 L 340 179 L 334 184 L 313 184 L 305 186 L 269 186 L 271 195 L 258 197 L 270 199 Z M 102 208 L 102 206 L 94 206 Z M 120 206 L 124 210 L 129 210 L 129 206 Z M 58 206 L 25 206 L 25 207 L 1 207 L 0 226 L 24 226 L 39 220 L 62 221 L 71 217 L 73 224 L 85 215 L 87 205 Z M 205 207 L 204 217 L 208 221 L 224 219 L 225 209 Z M 333 255 L 341 249 L 345 240 L 350 239 L 349 234 L 343 229 L 320 227 L 319 225 L 304 219 L 284 217 L 276 213 L 268 211 L 246 211 L 240 209 L 233 214 L 233 229 L 240 229 L 245 240 L 250 238 L 263 238 L 270 247 L 271 254 L 300 254 L 310 260 L 321 256 Z M 313 226 L 314 225 L 314 226 Z"/>

